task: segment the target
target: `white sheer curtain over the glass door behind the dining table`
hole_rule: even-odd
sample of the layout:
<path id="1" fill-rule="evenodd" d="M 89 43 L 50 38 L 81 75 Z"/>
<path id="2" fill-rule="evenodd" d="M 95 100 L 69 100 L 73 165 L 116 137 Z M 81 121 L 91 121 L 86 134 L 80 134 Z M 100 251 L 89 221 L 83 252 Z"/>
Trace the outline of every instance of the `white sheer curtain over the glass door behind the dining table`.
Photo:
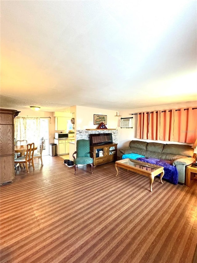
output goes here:
<path id="1" fill-rule="evenodd" d="M 40 147 L 40 118 L 15 117 L 14 118 L 14 138 L 15 144 L 17 140 L 27 140 Z"/>

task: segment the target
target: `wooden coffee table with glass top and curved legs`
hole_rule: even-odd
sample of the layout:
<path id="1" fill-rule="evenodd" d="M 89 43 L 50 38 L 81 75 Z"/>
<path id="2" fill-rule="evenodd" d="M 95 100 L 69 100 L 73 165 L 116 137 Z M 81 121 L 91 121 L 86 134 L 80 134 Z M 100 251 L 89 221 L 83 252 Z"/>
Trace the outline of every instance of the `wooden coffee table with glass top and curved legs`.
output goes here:
<path id="1" fill-rule="evenodd" d="M 156 175 L 161 174 L 160 182 L 163 183 L 162 182 L 162 177 L 164 175 L 163 166 L 126 158 L 126 159 L 115 162 L 115 168 L 117 171 L 117 174 L 115 176 L 118 175 L 118 167 L 127 169 L 129 171 L 136 172 L 140 175 L 148 176 L 150 180 L 150 191 L 151 192 L 153 191 L 152 184 L 153 184 L 153 181 Z"/>

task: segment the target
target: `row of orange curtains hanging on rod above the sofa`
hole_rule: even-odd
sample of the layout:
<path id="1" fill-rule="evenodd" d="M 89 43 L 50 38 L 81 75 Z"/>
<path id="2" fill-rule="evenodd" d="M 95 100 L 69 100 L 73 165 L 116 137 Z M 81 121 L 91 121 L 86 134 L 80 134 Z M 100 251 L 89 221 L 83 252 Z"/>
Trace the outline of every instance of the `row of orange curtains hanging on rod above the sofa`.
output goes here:
<path id="1" fill-rule="evenodd" d="M 138 113 L 137 138 L 194 143 L 197 109 L 172 109 Z"/>

